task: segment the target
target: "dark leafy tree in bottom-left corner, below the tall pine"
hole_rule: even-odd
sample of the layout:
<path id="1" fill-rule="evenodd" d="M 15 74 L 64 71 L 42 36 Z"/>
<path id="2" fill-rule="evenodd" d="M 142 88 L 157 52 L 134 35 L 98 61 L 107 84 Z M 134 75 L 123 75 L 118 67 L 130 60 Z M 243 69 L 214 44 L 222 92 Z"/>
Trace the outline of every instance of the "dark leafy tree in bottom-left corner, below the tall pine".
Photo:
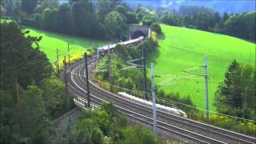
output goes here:
<path id="1" fill-rule="evenodd" d="M 42 90 L 28 86 L 22 90 L 18 105 L 10 91 L 1 91 L 2 143 L 50 143 L 49 122 Z"/>

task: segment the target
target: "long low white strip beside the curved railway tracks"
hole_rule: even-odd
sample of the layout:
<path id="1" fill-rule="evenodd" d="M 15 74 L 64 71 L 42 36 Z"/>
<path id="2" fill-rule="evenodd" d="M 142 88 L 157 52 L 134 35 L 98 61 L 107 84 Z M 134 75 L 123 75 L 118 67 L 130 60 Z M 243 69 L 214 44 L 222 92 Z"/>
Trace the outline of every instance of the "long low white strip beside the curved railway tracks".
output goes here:
<path id="1" fill-rule="evenodd" d="M 139 102 L 143 106 L 149 106 L 149 107 L 153 106 L 153 102 L 146 101 L 145 99 L 137 98 L 137 97 L 134 97 L 130 94 L 126 94 L 124 92 L 118 92 L 118 94 L 121 95 L 122 97 L 129 98 L 130 100 Z M 164 111 L 168 114 L 174 114 L 174 115 L 178 115 L 178 116 L 182 116 L 182 117 L 187 118 L 186 113 L 182 110 L 170 108 L 170 107 L 167 107 L 167 106 L 162 106 L 162 105 L 159 105 L 159 104 L 156 104 L 156 108 L 157 108 L 157 110 Z"/>

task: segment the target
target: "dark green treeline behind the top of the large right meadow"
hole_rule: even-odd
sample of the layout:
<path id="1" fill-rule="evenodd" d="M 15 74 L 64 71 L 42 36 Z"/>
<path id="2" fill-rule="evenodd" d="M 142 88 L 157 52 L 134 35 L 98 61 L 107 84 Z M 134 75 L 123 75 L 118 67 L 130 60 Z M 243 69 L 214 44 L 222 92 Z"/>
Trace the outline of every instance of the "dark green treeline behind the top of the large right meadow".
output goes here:
<path id="1" fill-rule="evenodd" d="M 221 16 L 204 6 L 180 6 L 177 11 L 158 10 L 161 22 L 245 38 L 255 42 L 255 11 Z"/>

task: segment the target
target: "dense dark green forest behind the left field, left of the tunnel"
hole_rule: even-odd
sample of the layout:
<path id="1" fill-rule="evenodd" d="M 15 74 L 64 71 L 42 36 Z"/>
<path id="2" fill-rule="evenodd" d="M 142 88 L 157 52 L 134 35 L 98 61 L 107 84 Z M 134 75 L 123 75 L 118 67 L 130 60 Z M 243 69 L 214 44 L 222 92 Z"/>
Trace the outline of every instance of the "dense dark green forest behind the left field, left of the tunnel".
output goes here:
<path id="1" fill-rule="evenodd" d="M 10 16 L 22 25 L 87 38 L 119 38 L 119 34 L 127 30 L 128 23 L 138 22 L 134 11 L 119 0 L 75 0 L 62 5 L 58 0 L 6 3 L 1 14 L 10 12 Z M 9 5 L 13 10 L 6 10 Z M 110 26 L 111 22 L 114 26 Z M 127 37 L 127 34 L 122 35 Z"/>

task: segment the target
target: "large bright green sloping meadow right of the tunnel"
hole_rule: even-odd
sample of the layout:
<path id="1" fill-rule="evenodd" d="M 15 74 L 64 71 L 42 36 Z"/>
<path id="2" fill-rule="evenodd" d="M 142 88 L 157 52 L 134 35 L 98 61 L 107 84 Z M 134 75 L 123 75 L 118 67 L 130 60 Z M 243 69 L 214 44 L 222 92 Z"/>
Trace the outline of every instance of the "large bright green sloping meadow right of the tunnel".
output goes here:
<path id="1" fill-rule="evenodd" d="M 155 74 L 187 76 L 191 74 L 184 73 L 182 70 L 202 66 L 204 57 L 207 55 L 210 110 L 215 110 L 214 92 L 217 90 L 218 82 L 222 82 L 228 66 L 234 59 L 240 63 L 255 66 L 255 43 L 201 30 L 166 25 L 161 27 L 164 35 L 158 40 L 158 49 L 154 50 L 147 59 L 148 68 L 150 68 L 150 62 L 153 62 Z M 203 74 L 204 70 L 198 69 L 195 72 Z M 148 70 L 149 76 L 150 70 Z M 162 80 L 162 78 L 155 78 L 155 83 L 158 84 Z M 203 77 L 179 80 L 176 83 L 177 85 L 164 86 L 161 89 L 166 93 L 178 92 L 182 96 L 190 95 L 194 104 L 205 108 Z"/>

